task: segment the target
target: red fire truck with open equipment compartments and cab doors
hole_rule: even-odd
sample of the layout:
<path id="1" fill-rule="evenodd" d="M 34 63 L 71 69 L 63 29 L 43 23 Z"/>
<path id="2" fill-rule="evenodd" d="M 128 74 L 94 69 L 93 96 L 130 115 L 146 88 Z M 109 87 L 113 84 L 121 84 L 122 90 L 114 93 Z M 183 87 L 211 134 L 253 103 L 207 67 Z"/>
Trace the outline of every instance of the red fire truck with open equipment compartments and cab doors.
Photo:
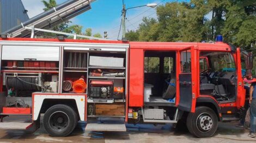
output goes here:
<path id="1" fill-rule="evenodd" d="M 218 121 L 239 120 L 242 66 L 252 54 L 213 43 L 0 38 L 0 128 L 69 135 L 126 131 L 125 124 L 186 126 L 214 135 Z M 243 63 L 244 62 L 244 63 Z M 30 120 L 11 122 L 10 116 Z"/>

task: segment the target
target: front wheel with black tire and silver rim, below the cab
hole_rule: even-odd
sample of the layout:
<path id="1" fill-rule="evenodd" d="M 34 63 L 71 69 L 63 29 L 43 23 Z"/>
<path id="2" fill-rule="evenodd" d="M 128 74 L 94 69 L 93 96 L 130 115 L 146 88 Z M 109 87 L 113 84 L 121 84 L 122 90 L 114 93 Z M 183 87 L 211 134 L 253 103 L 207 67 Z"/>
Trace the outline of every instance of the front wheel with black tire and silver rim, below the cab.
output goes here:
<path id="1" fill-rule="evenodd" d="M 195 113 L 189 113 L 187 116 L 187 129 L 197 138 L 211 137 L 217 127 L 217 115 L 209 107 L 197 107 Z"/>

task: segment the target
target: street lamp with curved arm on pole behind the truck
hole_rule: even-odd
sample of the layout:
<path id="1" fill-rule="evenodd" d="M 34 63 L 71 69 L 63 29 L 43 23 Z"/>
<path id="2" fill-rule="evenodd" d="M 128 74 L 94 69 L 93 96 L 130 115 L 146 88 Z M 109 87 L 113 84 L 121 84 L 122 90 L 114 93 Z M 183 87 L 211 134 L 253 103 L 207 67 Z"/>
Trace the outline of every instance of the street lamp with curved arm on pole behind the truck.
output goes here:
<path id="1" fill-rule="evenodd" d="M 122 10 L 123 35 L 122 35 L 122 39 L 125 38 L 125 17 L 126 17 L 126 11 L 129 10 L 129 9 L 140 8 L 140 7 L 143 7 L 143 6 L 148 6 L 150 8 L 155 8 L 157 6 L 157 4 L 156 3 L 149 3 L 149 4 L 146 4 L 146 5 L 135 6 L 135 7 L 132 7 L 132 8 L 127 8 L 127 9 L 125 9 L 125 4 L 123 4 L 123 10 Z"/>

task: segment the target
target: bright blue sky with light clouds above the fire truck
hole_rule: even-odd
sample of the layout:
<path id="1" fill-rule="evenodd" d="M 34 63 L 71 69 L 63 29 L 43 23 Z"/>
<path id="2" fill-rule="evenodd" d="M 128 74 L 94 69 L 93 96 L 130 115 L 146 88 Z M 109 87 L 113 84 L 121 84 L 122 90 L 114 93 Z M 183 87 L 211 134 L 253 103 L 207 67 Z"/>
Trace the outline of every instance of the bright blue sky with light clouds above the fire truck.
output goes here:
<path id="1" fill-rule="evenodd" d="M 57 3 L 63 3 L 66 0 L 57 0 Z M 148 3 L 157 3 L 159 5 L 176 0 L 125 0 L 126 8 L 145 5 Z M 181 0 L 180 0 L 181 1 Z M 44 5 L 41 0 L 22 0 L 23 5 L 28 10 L 28 16 L 31 18 L 43 12 Z M 108 38 L 117 39 L 121 21 L 122 0 L 96 0 L 92 4 L 92 9 L 72 18 L 72 24 L 92 28 L 93 33 L 99 32 L 103 35 L 107 31 Z M 156 17 L 156 9 L 142 7 L 128 10 L 126 13 L 126 29 L 135 30 L 138 28 L 143 17 Z M 121 35 L 121 32 L 120 32 Z"/>

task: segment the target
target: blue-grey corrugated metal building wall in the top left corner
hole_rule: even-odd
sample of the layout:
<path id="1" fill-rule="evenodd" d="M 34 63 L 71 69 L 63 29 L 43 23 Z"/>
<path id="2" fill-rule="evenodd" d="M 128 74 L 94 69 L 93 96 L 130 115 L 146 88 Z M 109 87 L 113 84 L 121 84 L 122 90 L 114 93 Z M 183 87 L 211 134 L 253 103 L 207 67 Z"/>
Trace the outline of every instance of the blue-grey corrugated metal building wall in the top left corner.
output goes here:
<path id="1" fill-rule="evenodd" d="M 0 0 L 0 33 L 29 19 L 21 0 Z"/>

